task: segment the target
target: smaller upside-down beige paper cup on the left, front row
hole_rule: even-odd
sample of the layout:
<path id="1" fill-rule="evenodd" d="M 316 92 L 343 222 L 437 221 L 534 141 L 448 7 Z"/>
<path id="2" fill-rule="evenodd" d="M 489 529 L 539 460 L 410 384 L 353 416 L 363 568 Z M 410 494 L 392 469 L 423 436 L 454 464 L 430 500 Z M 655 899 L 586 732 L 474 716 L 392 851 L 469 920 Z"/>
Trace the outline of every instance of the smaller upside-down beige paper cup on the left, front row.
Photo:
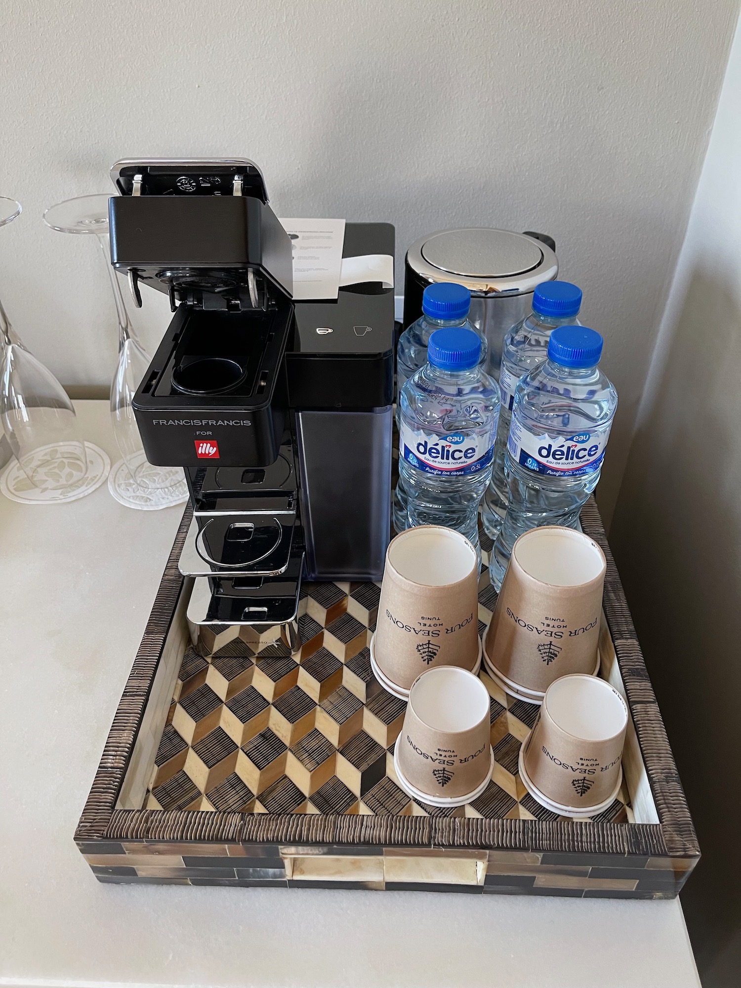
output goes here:
<path id="1" fill-rule="evenodd" d="M 394 768 L 401 787 L 432 805 L 475 799 L 489 782 L 489 694 L 472 673 L 441 666 L 409 691 Z"/>

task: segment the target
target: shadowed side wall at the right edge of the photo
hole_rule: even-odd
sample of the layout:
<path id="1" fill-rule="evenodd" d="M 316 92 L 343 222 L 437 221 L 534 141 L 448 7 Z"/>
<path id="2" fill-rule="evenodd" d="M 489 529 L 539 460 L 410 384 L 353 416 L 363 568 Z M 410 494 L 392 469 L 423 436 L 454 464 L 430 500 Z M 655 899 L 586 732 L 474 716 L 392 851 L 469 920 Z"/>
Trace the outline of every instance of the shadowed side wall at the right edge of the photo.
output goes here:
<path id="1" fill-rule="evenodd" d="M 611 533 L 693 813 L 702 984 L 741 971 L 741 26 Z"/>

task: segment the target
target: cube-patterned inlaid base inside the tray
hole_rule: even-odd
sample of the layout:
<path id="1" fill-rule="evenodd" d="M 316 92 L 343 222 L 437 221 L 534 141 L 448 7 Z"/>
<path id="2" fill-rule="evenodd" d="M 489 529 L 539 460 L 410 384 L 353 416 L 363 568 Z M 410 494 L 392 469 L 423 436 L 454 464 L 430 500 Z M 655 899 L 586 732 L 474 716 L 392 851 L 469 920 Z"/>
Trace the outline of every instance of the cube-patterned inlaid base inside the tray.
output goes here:
<path id="1" fill-rule="evenodd" d="M 481 634 L 497 599 L 490 548 L 483 535 Z M 507 696 L 485 671 L 494 763 L 484 791 L 464 806 L 436 807 L 401 789 L 393 750 L 406 702 L 371 672 L 379 597 L 372 583 L 305 584 L 293 652 L 279 626 L 202 626 L 198 648 L 183 658 L 143 808 L 563 819 L 520 778 L 538 707 Z M 595 819 L 633 821 L 624 784 Z"/>

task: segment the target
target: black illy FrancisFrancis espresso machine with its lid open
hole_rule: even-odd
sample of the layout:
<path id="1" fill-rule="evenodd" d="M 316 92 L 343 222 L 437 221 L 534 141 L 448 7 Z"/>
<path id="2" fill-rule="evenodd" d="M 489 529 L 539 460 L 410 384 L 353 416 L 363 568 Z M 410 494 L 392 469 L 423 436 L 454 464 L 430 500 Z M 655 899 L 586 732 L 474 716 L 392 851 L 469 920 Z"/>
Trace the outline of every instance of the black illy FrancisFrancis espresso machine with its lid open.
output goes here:
<path id="1" fill-rule="evenodd" d="M 288 623 L 300 581 L 379 580 L 390 535 L 393 289 L 292 301 L 291 240 L 246 159 L 121 161 L 111 258 L 173 319 L 133 399 L 151 463 L 183 466 L 196 623 Z M 343 255 L 390 254 L 348 223 Z"/>

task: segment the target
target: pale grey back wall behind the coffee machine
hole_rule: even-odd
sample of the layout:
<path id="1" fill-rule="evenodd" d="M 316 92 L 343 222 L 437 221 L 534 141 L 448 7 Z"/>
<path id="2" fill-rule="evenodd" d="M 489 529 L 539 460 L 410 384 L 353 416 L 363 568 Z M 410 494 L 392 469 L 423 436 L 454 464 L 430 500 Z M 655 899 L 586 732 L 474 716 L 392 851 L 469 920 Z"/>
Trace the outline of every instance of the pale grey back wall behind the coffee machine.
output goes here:
<path id="1" fill-rule="evenodd" d="M 390 220 L 399 257 L 444 226 L 553 235 L 620 394 L 610 514 L 738 0 L 7 6 L 0 194 L 26 211 L 0 283 L 62 382 L 110 379 L 113 309 L 94 244 L 44 207 L 109 190 L 119 157 L 246 155 L 279 214 Z"/>

